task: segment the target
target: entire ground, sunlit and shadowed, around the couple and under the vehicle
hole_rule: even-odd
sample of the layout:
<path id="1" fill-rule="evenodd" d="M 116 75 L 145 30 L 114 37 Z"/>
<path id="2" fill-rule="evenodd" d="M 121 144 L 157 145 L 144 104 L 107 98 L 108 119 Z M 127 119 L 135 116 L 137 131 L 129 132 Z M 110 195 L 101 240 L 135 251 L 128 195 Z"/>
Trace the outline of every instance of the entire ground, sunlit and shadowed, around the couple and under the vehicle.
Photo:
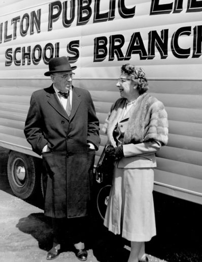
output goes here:
<path id="1" fill-rule="evenodd" d="M 0 262 L 43 262 L 52 247 L 51 221 L 44 216 L 43 198 L 18 199 L 7 178 L 9 152 L 0 147 Z M 154 192 L 157 236 L 146 243 L 149 262 L 202 261 L 202 205 Z M 127 262 L 129 243 L 108 232 L 94 216 L 87 262 Z M 71 242 L 71 241 L 70 241 Z M 78 262 L 69 246 L 57 262 Z"/>

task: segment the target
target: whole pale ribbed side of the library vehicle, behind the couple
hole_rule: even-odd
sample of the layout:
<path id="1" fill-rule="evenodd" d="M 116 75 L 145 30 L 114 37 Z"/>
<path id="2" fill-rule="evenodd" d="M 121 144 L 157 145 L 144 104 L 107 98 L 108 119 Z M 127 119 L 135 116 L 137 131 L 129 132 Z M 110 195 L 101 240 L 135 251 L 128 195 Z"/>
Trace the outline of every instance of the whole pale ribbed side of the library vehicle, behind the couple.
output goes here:
<path id="1" fill-rule="evenodd" d="M 33 91 L 51 84 L 50 78 L 44 76 L 44 73 L 48 71 L 48 65 L 44 63 L 43 59 L 38 65 L 33 64 L 32 60 L 27 65 L 27 59 L 25 59 L 25 64 L 22 65 L 22 54 L 18 52 L 16 58 L 21 60 L 21 65 L 17 66 L 13 62 L 12 65 L 6 67 L 6 50 L 12 48 L 14 52 L 19 47 L 25 47 L 27 50 L 27 47 L 30 46 L 32 52 L 38 44 L 43 50 L 48 43 L 51 43 L 54 48 L 55 44 L 59 43 L 59 56 L 72 56 L 67 52 L 67 45 L 71 41 L 79 41 L 79 58 L 73 64 L 77 65 L 73 84 L 90 91 L 100 121 L 101 145 L 96 154 L 95 163 L 107 142 L 107 136 L 102 132 L 103 124 L 112 104 L 120 97 L 116 83 L 121 73 L 121 65 L 127 62 L 134 63 L 145 70 L 149 80 L 149 93 L 164 104 L 169 118 L 169 144 L 157 153 L 155 188 L 174 194 L 171 188 L 177 187 L 178 192 L 190 190 L 199 195 L 202 193 L 202 62 L 201 56 L 192 58 L 192 54 L 194 39 L 197 40 L 196 36 L 193 36 L 194 27 L 201 25 L 201 12 L 187 12 L 186 5 L 183 5 L 184 10 L 180 13 L 173 13 L 172 10 L 170 14 L 166 15 L 149 15 L 151 1 L 127 0 L 124 2 L 127 8 L 136 5 L 136 14 L 133 17 L 122 18 L 116 8 L 114 19 L 93 23 L 95 3 L 92 1 L 92 15 L 89 21 L 85 25 L 78 26 L 78 2 L 75 1 L 75 3 L 75 19 L 72 25 L 64 28 L 61 14 L 59 19 L 53 22 L 53 29 L 50 31 L 48 31 L 50 2 L 36 0 L 30 4 L 30 1 L 25 0 L 8 0 L 0 3 L 3 38 L 5 21 L 8 21 L 7 35 L 12 34 L 13 36 L 12 18 L 17 16 L 22 18 L 25 13 L 30 15 L 31 12 L 41 9 L 41 32 L 37 33 L 35 28 L 33 35 L 30 35 L 30 30 L 28 30 L 27 35 L 21 37 L 19 22 L 17 23 L 16 39 L 8 42 L 3 39 L 0 44 L 0 145 L 33 154 L 23 134 L 30 95 Z M 100 13 L 109 11 L 109 3 L 109 0 L 100 1 Z M 172 37 L 179 28 L 185 26 L 191 27 L 191 34 L 180 36 L 178 44 L 182 49 L 190 48 L 190 55 L 188 58 L 177 58 L 172 50 Z M 144 48 L 148 52 L 150 32 L 156 31 L 160 36 L 163 29 L 169 29 L 165 59 L 161 58 L 159 50 L 155 47 L 153 59 L 140 59 L 139 54 L 132 53 L 130 60 L 118 61 L 115 53 L 114 60 L 109 61 L 111 36 L 122 35 L 124 37 L 121 51 L 125 56 L 134 33 L 140 34 Z M 94 43 L 98 37 L 107 39 L 106 58 L 101 62 L 93 60 Z M 166 188 L 170 188 L 170 191 Z M 188 194 L 185 196 L 187 199 L 189 199 Z M 182 197 L 181 193 L 176 195 Z M 191 199 L 191 201 L 194 200 Z M 197 199 L 196 202 L 202 204 L 202 198 L 201 201 Z"/>

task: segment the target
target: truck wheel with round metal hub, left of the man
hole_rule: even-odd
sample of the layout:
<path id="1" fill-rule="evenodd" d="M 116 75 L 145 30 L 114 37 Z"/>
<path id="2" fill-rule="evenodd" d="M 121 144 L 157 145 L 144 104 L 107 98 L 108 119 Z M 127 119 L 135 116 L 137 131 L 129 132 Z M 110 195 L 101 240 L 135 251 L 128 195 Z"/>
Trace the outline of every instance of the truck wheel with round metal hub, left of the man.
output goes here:
<path id="1" fill-rule="evenodd" d="M 8 179 L 12 191 L 20 199 L 31 196 L 41 182 L 36 161 L 30 155 L 11 151 L 8 160 Z"/>

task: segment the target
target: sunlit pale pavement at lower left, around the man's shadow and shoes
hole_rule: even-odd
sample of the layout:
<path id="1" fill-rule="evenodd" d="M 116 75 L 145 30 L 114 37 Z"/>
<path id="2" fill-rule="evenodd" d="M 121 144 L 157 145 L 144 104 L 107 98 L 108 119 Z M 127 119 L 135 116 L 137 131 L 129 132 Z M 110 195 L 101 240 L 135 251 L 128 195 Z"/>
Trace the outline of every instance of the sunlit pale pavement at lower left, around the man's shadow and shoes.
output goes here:
<path id="1" fill-rule="evenodd" d="M 47 261 L 52 245 L 50 221 L 43 210 L 0 190 L 0 261 Z M 62 252 L 58 262 L 78 262 L 74 252 Z M 92 249 L 88 261 L 98 261 Z"/>

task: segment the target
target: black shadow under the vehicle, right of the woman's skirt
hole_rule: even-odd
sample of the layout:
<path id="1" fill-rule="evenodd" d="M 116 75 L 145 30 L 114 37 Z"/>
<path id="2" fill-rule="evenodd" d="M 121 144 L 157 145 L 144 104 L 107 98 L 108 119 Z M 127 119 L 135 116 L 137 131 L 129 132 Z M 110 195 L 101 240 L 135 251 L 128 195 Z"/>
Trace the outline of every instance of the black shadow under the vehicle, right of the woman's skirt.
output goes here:
<path id="1" fill-rule="evenodd" d="M 154 192 L 157 236 L 147 253 L 169 262 L 201 262 L 202 206 Z"/>

